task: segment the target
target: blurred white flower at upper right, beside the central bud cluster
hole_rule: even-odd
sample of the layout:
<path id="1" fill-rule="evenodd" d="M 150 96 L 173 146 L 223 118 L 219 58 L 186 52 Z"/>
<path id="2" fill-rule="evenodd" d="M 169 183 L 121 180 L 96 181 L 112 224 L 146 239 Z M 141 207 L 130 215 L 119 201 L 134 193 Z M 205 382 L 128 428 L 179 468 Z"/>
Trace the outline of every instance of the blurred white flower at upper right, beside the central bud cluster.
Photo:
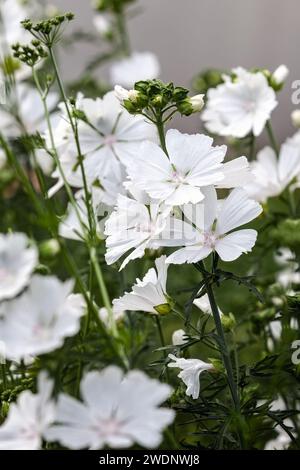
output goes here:
<path id="1" fill-rule="evenodd" d="M 233 74 L 234 80 L 224 76 L 224 83 L 208 91 L 202 119 L 214 134 L 242 138 L 252 132 L 258 136 L 277 106 L 275 92 L 261 72 L 238 67 Z"/>

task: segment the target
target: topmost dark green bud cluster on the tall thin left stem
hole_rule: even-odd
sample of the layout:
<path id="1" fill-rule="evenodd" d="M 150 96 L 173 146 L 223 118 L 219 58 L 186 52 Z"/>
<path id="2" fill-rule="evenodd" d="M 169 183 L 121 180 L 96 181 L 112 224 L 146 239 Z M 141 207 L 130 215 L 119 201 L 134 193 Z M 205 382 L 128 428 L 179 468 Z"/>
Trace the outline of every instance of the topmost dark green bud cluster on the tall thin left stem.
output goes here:
<path id="1" fill-rule="evenodd" d="M 60 37 L 59 32 L 62 24 L 72 21 L 73 19 L 74 13 L 65 13 L 64 15 L 57 15 L 35 24 L 31 20 L 26 19 L 22 21 L 21 24 L 26 31 L 29 31 L 43 44 L 46 46 L 52 46 Z"/>

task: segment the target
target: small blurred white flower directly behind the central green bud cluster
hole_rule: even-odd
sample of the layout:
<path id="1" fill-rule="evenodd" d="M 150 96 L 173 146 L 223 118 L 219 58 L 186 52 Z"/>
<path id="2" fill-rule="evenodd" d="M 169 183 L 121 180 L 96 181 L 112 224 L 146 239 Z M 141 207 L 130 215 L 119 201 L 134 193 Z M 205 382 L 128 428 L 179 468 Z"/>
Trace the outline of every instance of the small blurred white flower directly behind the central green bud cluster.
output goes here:
<path id="1" fill-rule="evenodd" d="M 115 62 L 110 70 L 112 85 L 132 88 L 140 80 L 159 78 L 160 65 L 152 52 L 134 52 L 129 57 Z"/>

